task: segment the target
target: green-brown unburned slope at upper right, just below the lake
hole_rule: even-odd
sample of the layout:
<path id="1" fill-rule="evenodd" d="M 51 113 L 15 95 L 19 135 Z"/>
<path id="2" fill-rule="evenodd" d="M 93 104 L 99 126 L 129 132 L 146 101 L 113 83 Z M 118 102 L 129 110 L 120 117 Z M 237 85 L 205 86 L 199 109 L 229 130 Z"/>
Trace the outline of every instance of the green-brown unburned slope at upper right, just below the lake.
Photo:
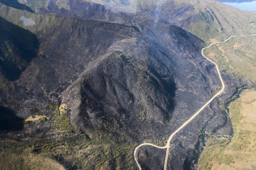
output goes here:
<path id="1" fill-rule="evenodd" d="M 185 20 L 181 26 L 204 40 L 215 38 L 220 41 L 230 35 L 246 35 L 255 32 L 250 25 L 256 20 L 255 12 L 238 10 L 214 0 L 189 1 L 188 4 L 193 4 L 196 15 Z"/>

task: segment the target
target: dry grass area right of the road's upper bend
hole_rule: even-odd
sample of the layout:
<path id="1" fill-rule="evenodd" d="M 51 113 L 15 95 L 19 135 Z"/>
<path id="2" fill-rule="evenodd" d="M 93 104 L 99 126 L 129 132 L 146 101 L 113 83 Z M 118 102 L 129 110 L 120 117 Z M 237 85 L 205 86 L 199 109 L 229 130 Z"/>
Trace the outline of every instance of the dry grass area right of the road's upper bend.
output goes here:
<path id="1" fill-rule="evenodd" d="M 221 70 L 256 82 L 256 36 L 234 37 L 226 43 L 206 49 L 206 56 L 216 61 Z"/>

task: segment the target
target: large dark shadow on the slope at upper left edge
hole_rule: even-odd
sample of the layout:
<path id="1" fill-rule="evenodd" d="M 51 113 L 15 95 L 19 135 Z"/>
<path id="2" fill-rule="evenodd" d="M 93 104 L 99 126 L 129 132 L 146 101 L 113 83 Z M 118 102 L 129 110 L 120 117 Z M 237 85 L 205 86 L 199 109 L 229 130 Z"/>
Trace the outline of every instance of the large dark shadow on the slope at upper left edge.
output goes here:
<path id="1" fill-rule="evenodd" d="M 8 80 L 19 78 L 38 48 L 36 35 L 0 17 L 0 70 Z"/>

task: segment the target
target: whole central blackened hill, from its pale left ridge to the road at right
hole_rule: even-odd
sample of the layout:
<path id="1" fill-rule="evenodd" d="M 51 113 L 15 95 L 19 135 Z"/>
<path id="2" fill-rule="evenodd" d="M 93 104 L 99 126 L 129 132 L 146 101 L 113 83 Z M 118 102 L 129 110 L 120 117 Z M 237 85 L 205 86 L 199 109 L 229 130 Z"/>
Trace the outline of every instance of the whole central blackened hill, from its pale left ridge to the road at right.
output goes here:
<path id="1" fill-rule="evenodd" d="M 134 33 L 132 39 L 113 44 L 62 94 L 62 103 L 70 106 L 72 124 L 90 137 L 98 129 L 118 136 L 125 132 L 130 140 L 140 135 L 162 138 L 178 126 L 177 119 L 185 118 L 182 113 L 191 115 L 219 87 L 217 77 L 216 82 L 211 79 L 216 76 L 212 67 L 202 74 L 204 66 L 211 64 L 196 60 L 202 44 L 196 36 L 173 25 L 150 27 L 145 37 Z"/>

